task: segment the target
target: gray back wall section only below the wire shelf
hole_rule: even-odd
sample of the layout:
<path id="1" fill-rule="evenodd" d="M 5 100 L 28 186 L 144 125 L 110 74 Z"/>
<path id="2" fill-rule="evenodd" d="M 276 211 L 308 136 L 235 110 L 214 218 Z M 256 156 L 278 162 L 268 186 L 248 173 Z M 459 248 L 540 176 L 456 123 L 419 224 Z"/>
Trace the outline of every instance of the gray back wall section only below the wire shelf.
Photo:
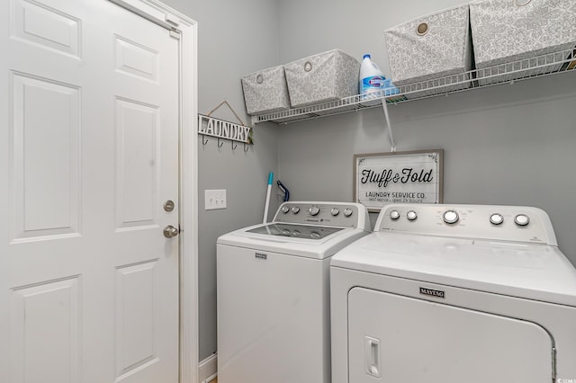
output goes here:
<path id="1" fill-rule="evenodd" d="M 445 150 L 446 203 L 545 209 L 576 264 L 574 75 L 392 106 L 397 149 Z M 390 151 L 382 109 L 290 124 L 278 142 L 278 171 L 296 200 L 351 200 L 353 156 Z"/>

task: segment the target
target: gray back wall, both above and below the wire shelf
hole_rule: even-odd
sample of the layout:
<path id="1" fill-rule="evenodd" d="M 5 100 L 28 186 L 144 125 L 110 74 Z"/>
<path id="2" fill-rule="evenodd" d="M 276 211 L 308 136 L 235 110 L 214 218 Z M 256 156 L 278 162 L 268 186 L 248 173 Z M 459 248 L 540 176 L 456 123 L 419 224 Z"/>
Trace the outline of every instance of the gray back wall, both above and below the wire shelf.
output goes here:
<path id="1" fill-rule="evenodd" d="M 385 29 L 463 3 L 282 1 L 280 61 L 339 48 L 371 53 L 389 75 Z M 576 264 L 575 105 L 568 73 L 402 103 L 390 115 L 399 151 L 445 149 L 445 202 L 545 209 Z M 351 200 L 354 154 L 390 151 L 381 108 L 289 124 L 278 142 L 278 171 L 297 200 Z"/>

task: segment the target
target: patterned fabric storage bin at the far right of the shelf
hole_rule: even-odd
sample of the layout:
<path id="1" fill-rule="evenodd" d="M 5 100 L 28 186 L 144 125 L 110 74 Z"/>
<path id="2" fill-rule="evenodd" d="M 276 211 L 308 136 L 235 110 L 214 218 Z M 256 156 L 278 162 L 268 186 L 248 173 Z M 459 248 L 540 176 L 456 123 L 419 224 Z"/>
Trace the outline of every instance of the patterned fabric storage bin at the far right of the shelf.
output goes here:
<path id="1" fill-rule="evenodd" d="M 473 1 L 470 22 L 481 85 L 556 71 L 576 45 L 574 0 Z"/>

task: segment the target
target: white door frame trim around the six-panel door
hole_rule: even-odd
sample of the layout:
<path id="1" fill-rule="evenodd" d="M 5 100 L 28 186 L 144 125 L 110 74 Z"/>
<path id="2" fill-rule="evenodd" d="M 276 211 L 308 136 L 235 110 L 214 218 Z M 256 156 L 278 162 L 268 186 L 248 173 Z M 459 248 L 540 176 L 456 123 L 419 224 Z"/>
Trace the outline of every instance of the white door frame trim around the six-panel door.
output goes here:
<path id="1" fill-rule="evenodd" d="M 109 0 L 180 32 L 180 383 L 198 383 L 198 26 L 157 0 Z"/>

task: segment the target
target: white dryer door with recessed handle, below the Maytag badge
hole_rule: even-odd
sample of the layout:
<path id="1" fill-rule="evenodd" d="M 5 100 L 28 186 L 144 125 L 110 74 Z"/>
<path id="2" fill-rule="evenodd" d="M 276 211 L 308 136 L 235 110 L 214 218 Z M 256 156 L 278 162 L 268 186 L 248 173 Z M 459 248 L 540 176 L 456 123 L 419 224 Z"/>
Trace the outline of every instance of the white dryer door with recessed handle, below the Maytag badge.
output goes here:
<path id="1" fill-rule="evenodd" d="M 554 340 L 532 322 L 372 289 L 348 294 L 349 381 L 542 383 Z"/>

